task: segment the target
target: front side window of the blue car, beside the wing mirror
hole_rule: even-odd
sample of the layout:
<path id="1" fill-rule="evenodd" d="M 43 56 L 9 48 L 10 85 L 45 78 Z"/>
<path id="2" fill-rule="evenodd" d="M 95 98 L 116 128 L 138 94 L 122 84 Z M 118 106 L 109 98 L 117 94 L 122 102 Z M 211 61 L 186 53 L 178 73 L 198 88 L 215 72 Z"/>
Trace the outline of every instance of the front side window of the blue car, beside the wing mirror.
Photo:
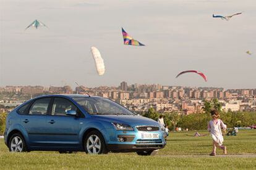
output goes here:
<path id="1" fill-rule="evenodd" d="M 53 102 L 53 111 L 51 115 L 54 116 L 67 116 L 66 113 L 69 110 L 77 111 L 77 107 L 75 107 L 74 103 L 70 102 L 64 98 L 54 98 Z"/>

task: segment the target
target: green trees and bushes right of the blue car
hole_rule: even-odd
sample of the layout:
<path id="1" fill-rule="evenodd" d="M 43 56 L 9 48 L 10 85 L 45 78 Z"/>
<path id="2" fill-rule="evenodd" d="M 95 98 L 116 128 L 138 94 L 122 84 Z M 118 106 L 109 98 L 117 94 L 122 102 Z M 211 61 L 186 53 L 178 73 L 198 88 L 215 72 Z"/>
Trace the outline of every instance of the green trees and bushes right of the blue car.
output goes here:
<path id="1" fill-rule="evenodd" d="M 205 100 L 203 104 L 203 113 L 193 113 L 190 115 L 181 115 L 179 113 L 158 113 L 153 108 L 148 109 L 142 116 L 154 119 L 157 121 L 160 115 L 164 115 L 164 122 L 169 130 L 174 130 L 176 127 L 189 130 L 205 130 L 208 122 L 211 119 L 210 111 L 218 110 L 221 119 L 229 128 L 231 127 L 247 127 L 256 124 L 256 112 L 249 111 L 223 111 L 221 103 L 218 99 L 210 101 Z"/>

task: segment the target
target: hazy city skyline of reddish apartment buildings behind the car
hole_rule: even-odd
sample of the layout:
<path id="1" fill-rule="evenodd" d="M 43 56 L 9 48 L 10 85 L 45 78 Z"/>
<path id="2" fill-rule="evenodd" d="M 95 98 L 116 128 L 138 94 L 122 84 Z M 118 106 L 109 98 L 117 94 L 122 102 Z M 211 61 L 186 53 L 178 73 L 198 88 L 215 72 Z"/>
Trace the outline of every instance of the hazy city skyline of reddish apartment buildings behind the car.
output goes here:
<path id="1" fill-rule="evenodd" d="M 130 84 L 119 86 L 6 86 L 0 87 L 0 105 L 15 107 L 20 102 L 45 94 L 83 94 L 114 100 L 134 111 L 177 111 L 180 114 L 201 113 L 205 101 L 220 101 L 225 111 L 255 111 L 255 89 L 223 89 L 213 87 L 162 86 L 161 84 Z M 5 109 L 3 108 L 2 111 Z M 0 110 L 1 112 L 1 110 Z"/>

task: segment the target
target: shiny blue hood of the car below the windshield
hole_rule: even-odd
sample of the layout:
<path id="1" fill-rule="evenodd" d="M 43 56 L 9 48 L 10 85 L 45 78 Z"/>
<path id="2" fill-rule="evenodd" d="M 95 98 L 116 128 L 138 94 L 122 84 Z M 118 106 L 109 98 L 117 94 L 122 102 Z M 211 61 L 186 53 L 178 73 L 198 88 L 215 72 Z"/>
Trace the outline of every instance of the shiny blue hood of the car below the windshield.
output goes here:
<path id="1" fill-rule="evenodd" d="M 150 118 L 145 118 L 143 116 L 133 116 L 133 115 L 93 115 L 93 117 L 102 119 L 103 121 L 108 121 L 110 123 L 125 123 L 130 126 L 158 126 L 160 124 Z"/>

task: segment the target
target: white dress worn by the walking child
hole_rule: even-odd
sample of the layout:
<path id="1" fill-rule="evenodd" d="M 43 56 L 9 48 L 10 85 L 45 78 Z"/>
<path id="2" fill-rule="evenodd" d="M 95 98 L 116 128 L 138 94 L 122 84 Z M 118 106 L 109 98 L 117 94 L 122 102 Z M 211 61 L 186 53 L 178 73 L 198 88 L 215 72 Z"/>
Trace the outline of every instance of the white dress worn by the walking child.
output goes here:
<path id="1" fill-rule="evenodd" d="M 226 124 L 221 121 L 221 119 L 218 119 L 217 123 L 215 123 L 213 120 L 211 120 L 208 124 L 208 131 L 211 133 L 211 138 L 218 143 L 218 145 L 223 144 L 223 136 L 221 132 L 221 127 L 223 129 L 226 129 Z"/>

